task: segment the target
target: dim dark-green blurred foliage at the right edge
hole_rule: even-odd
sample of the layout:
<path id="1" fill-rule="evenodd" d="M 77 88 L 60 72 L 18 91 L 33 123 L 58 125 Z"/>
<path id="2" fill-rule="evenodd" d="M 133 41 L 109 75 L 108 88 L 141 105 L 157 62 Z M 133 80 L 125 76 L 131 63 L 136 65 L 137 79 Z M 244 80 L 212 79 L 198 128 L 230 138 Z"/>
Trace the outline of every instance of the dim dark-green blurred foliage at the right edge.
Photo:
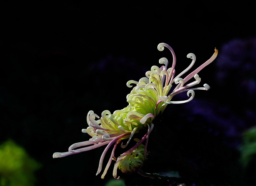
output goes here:
<path id="1" fill-rule="evenodd" d="M 246 167 L 256 158 L 256 126 L 243 133 L 241 150 L 241 163 Z"/>

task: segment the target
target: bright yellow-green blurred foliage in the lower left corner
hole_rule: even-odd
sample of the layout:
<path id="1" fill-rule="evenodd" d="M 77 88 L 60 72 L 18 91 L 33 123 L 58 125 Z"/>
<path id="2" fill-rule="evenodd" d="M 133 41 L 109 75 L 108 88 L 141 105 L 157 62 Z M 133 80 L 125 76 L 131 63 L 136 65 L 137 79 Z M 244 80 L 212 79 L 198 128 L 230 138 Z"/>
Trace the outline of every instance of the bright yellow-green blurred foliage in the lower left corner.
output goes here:
<path id="1" fill-rule="evenodd" d="M 0 145 L 0 186 L 34 185 L 33 172 L 40 167 L 41 164 L 13 140 Z"/>

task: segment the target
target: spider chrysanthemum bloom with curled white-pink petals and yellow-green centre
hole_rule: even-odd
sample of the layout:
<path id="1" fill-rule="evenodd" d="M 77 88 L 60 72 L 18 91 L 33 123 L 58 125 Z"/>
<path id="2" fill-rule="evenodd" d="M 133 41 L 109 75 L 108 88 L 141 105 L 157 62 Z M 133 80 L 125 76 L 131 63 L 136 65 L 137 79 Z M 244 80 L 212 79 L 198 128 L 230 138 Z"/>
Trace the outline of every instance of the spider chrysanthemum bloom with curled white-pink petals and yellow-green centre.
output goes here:
<path id="1" fill-rule="evenodd" d="M 104 178 L 112 160 L 115 160 L 116 163 L 113 170 L 113 177 L 118 179 L 119 177 L 117 178 L 116 174 L 117 168 L 118 166 L 120 166 L 121 161 L 124 160 L 125 157 L 128 157 L 129 154 L 131 155 L 133 151 L 136 151 L 135 149 L 139 148 L 144 140 L 146 140 L 144 146 L 144 155 L 146 155 L 148 136 L 154 126 L 154 124 L 152 123 L 153 119 L 160 112 L 163 112 L 168 104 L 180 104 L 192 100 L 195 95 L 194 90 L 208 90 L 210 88 L 208 84 L 204 84 L 204 87 L 202 88 L 191 87 L 201 81 L 201 78 L 199 78 L 197 73 L 209 63 L 211 63 L 218 54 L 218 50 L 215 48 L 215 52 L 209 60 L 207 60 L 205 63 L 203 63 L 203 65 L 198 67 L 189 75 L 187 75 L 185 78 L 181 78 L 181 76 L 184 75 L 194 65 L 196 59 L 195 55 L 193 53 L 189 53 L 187 55 L 188 58 L 192 59 L 191 64 L 175 77 L 174 68 L 176 64 L 176 57 L 174 51 L 169 45 L 165 43 L 160 43 L 158 45 L 158 50 L 162 51 L 164 47 L 167 47 L 172 53 L 172 67 L 168 69 L 168 60 L 166 58 L 161 58 L 159 60 L 159 63 L 164 64 L 162 67 L 159 68 L 157 66 L 152 66 L 151 70 L 146 72 L 146 77 L 141 78 L 139 81 L 128 81 L 128 87 L 132 87 L 130 85 L 132 83 L 136 84 L 136 86 L 133 87 L 131 93 L 127 95 L 127 102 L 129 103 L 129 105 L 122 110 L 114 111 L 113 114 L 111 114 L 110 111 L 105 110 L 102 112 L 101 118 L 93 111 L 89 111 L 87 115 L 88 127 L 87 129 L 82 129 L 82 132 L 88 133 L 92 138 L 88 141 L 79 142 L 71 145 L 69 147 L 69 152 L 55 152 L 53 154 L 53 158 L 64 157 L 71 154 L 91 150 L 103 145 L 107 145 L 100 158 L 98 171 L 96 173 L 96 175 L 98 175 L 102 170 L 102 163 L 106 152 L 114 144 L 112 154 L 101 177 Z M 195 81 L 186 84 L 186 82 L 193 77 L 195 78 Z M 172 92 L 170 92 L 173 83 L 177 84 L 177 86 Z M 189 96 L 190 94 L 191 96 L 188 100 L 172 101 L 172 98 L 176 94 L 179 94 L 181 92 L 187 92 L 187 96 Z M 100 119 L 95 120 L 96 118 Z M 119 144 L 123 139 L 128 139 L 125 145 L 123 145 L 123 142 L 121 142 L 121 147 L 125 148 L 132 139 L 133 135 L 135 133 L 139 133 L 145 127 L 148 127 L 148 132 L 144 135 L 144 137 L 141 140 L 138 140 L 135 146 L 124 152 L 118 158 L 118 160 L 116 160 L 114 153 L 117 144 Z M 74 150 L 75 148 L 78 148 L 80 146 L 87 147 Z M 143 159 L 138 160 L 144 161 Z M 135 165 L 136 167 L 138 164 L 129 164 L 129 169 L 132 170 L 130 165 Z"/>

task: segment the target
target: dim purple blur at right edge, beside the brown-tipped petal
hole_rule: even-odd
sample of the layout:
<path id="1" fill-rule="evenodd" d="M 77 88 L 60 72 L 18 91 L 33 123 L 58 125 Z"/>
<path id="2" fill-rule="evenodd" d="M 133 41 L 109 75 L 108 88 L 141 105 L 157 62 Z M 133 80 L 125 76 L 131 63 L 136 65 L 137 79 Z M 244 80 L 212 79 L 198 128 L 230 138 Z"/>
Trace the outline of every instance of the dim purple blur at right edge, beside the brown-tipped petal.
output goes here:
<path id="1" fill-rule="evenodd" d="M 235 85 L 240 98 L 255 100 L 256 95 L 256 38 L 235 39 L 224 44 L 216 66 L 220 86 Z"/>

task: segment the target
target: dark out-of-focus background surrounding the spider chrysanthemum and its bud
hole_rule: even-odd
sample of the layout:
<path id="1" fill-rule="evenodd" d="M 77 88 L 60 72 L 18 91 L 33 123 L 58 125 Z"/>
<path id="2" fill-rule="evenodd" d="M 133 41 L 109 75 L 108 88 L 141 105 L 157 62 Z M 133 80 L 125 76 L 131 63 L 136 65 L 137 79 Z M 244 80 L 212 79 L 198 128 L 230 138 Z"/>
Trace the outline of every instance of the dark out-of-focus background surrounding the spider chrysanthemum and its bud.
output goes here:
<path id="1" fill-rule="evenodd" d="M 190 185 L 255 184 L 256 30 L 253 3 L 2 3 L 0 185 L 168 185 L 118 172 L 96 176 L 104 147 L 53 159 L 76 142 L 86 115 L 127 106 L 128 80 L 139 80 L 158 59 L 176 72 L 197 57 L 209 91 L 169 105 L 149 140 L 144 171 L 180 175 Z M 199 84 L 199 86 L 200 86 Z M 180 95 L 177 100 L 187 99 Z M 160 120 L 162 121 L 160 122 Z M 117 155 L 122 153 L 117 149 Z M 109 154 L 110 155 L 110 154 Z M 107 154 L 108 156 L 108 154 Z"/>

